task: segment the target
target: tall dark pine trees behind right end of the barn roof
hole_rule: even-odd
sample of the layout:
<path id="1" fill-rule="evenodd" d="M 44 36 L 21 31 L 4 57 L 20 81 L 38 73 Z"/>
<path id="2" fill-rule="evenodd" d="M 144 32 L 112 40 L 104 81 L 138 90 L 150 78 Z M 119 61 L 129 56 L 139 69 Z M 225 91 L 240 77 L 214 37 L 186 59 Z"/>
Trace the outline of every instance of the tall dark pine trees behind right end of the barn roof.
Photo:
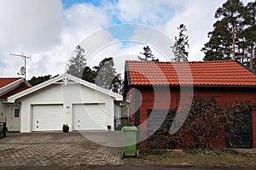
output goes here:
<path id="1" fill-rule="evenodd" d="M 255 11 L 255 2 L 244 6 L 240 0 L 227 0 L 218 8 L 209 42 L 201 49 L 204 60 L 237 59 L 255 69 Z"/>

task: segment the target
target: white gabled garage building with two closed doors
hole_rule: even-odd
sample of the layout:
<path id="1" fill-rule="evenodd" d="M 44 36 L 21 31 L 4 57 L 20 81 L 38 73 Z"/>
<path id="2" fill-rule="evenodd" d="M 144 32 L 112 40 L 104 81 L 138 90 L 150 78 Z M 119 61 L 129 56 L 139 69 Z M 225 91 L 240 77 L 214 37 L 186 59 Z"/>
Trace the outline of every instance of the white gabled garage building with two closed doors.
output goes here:
<path id="1" fill-rule="evenodd" d="M 123 100 L 119 94 L 69 74 L 50 79 L 8 98 L 20 105 L 20 132 L 114 130 Z M 118 108 L 118 109 L 117 109 Z"/>

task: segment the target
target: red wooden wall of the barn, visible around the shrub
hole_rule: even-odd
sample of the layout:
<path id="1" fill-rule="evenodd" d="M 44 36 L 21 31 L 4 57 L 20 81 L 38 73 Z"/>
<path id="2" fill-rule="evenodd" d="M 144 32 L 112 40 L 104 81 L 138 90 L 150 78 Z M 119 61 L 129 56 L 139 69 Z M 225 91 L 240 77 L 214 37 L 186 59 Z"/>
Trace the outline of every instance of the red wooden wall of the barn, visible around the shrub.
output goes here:
<path id="1" fill-rule="evenodd" d="M 156 87 L 138 87 L 140 91 L 140 101 L 142 102 L 139 110 L 140 124 L 146 122 L 148 118 L 148 109 L 175 109 L 180 105 L 180 89 L 171 87 L 170 94 L 166 93 L 166 88 Z M 214 97 L 219 105 L 230 106 L 236 101 L 250 100 L 256 103 L 256 89 L 255 88 L 194 88 L 194 92 L 186 92 L 183 89 L 183 100 L 190 101 L 192 98 L 202 97 L 210 98 Z M 137 101 L 134 101 L 137 102 Z M 183 104 L 183 107 L 186 105 Z M 253 147 L 256 147 L 256 110 L 252 111 L 253 121 Z M 134 121 L 134 117 L 132 119 Z M 143 128 L 141 133 L 143 133 Z M 224 148 L 224 132 L 221 132 L 223 137 L 215 139 L 214 146 L 216 148 Z"/>

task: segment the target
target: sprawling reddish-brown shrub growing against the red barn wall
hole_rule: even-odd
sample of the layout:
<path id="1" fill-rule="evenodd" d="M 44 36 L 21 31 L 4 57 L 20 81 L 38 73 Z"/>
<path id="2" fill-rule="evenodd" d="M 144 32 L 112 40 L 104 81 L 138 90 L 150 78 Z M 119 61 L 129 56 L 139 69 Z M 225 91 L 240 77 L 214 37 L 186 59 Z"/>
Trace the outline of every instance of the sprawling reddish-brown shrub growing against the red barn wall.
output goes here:
<path id="1" fill-rule="evenodd" d="M 221 107 L 214 98 L 197 98 L 192 101 L 189 111 L 177 111 L 172 122 L 169 114 L 153 135 L 139 144 L 144 152 L 161 153 L 166 149 L 212 150 L 213 141 L 225 138 L 230 141 L 237 131 L 247 130 L 243 114 L 253 109 L 248 101 L 236 102 L 231 107 Z M 180 121 L 182 120 L 182 121 Z M 183 122 L 184 120 L 184 122 Z M 171 126 L 182 127 L 170 134 Z"/>

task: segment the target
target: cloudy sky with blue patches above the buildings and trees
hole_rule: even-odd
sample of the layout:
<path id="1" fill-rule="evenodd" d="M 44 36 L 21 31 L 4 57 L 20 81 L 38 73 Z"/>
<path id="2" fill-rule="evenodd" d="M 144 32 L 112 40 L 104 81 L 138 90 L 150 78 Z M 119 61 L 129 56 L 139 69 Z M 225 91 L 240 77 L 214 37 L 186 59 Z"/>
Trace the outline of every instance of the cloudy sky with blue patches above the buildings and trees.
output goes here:
<path id="1" fill-rule="evenodd" d="M 137 59 L 145 45 L 160 60 L 170 60 L 180 24 L 188 28 L 189 60 L 202 60 L 214 12 L 224 2 L 0 0 L 0 77 L 17 77 L 24 65 L 10 53 L 32 56 L 26 60 L 27 78 L 62 74 L 78 44 L 89 65 L 113 57 L 119 72 L 125 59 Z"/>

